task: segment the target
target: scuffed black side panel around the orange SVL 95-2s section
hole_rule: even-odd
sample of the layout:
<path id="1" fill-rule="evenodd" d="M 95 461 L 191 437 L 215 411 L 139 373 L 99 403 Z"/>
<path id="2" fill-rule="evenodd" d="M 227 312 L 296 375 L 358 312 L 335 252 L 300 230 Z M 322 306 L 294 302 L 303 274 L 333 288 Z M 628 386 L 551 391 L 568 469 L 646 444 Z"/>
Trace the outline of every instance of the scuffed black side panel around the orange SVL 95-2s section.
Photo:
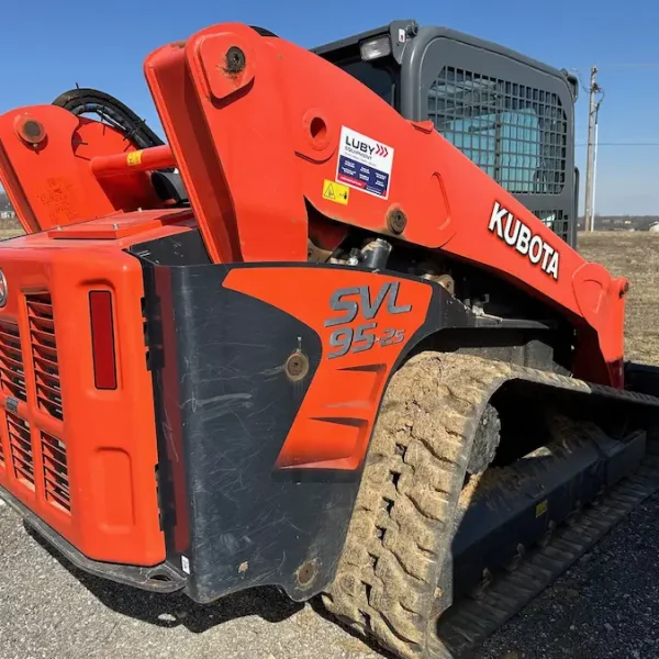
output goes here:
<path id="1" fill-rule="evenodd" d="M 334 576 L 361 477 L 360 468 L 275 469 L 323 358 L 319 335 L 224 288 L 232 266 L 143 264 L 169 565 L 187 573 L 198 602 L 261 584 L 294 600 L 317 594 Z M 405 351 L 438 328 L 474 323 L 445 289 L 427 286 L 426 323 Z M 300 345 L 309 375 L 295 381 L 284 364 Z"/>

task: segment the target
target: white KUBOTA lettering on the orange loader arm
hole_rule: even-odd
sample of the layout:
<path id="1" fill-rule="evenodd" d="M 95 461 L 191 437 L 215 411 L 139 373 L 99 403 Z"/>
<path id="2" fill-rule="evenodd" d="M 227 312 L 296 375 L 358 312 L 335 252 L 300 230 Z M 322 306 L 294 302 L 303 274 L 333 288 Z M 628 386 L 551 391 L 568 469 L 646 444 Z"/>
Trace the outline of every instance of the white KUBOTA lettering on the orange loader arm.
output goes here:
<path id="1" fill-rule="evenodd" d="M 558 281 L 559 253 L 498 201 L 494 202 L 488 228 Z"/>

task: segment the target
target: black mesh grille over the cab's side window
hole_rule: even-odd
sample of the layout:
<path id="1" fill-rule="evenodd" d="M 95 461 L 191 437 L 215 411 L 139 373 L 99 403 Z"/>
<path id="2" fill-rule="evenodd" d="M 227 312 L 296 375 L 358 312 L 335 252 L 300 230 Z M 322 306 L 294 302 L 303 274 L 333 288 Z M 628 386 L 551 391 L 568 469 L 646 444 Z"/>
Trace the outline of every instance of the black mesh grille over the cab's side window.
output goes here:
<path id="1" fill-rule="evenodd" d="M 428 91 L 428 119 L 509 192 L 561 192 L 568 124 L 558 94 L 444 67 Z"/>

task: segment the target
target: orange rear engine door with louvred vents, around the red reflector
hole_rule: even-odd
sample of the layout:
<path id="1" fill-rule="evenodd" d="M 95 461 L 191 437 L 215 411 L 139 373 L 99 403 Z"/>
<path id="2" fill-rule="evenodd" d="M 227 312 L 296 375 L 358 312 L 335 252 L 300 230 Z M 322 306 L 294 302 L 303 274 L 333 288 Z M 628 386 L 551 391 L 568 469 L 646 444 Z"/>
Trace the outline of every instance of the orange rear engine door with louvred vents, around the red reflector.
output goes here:
<path id="1" fill-rule="evenodd" d="M 161 562 L 139 261 L 46 234 L 1 253 L 0 485 L 91 559 Z M 112 293 L 115 390 L 94 387 L 91 290 Z"/>

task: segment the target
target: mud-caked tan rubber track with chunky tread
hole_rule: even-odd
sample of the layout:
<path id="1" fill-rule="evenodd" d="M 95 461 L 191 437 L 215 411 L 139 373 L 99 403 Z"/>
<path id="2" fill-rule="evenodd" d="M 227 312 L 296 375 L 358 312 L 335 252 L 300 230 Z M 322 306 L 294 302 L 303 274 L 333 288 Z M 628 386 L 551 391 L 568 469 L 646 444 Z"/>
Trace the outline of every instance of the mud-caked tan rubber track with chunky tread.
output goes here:
<path id="1" fill-rule="evenodd" d="M 435 589 L 459 523 L 457 503 L 479 420 L 492 394 L 513 379 L 659 406 L 658 399 L 645 394 L 465 355 L 422 353 L 395 372 L 382 401 L 336 577 L 323 601 L 339 619 L 404 659 L 457 657 L 433 628 Z M 543 561 L 547 566 L 548 559 L 538 560 L 538 570 L 546 570 Z M 560 561 L 549 560 L 558 570 Z M 532 572 L 529 579 L 541 583 L 541 572 Z M 477 644 L 545 588 L 528 594 L 528 583 L 520 605 L 506 591 L 506 612 L 495 621 L 491 611 L 488 628 L 479 622 L 480 608 L 476 614 L 466 610 L 463 617 L 457 617 L 458 607 L 449 610 L 453 641 L 457 634 L 459 646 L 465 640 Z M 496 597 L 498 592 L 489 595 Z M 492 606 L 489 599 L 478 604 Z M 500 602 L 498 611 L 503 608 Z"/>

